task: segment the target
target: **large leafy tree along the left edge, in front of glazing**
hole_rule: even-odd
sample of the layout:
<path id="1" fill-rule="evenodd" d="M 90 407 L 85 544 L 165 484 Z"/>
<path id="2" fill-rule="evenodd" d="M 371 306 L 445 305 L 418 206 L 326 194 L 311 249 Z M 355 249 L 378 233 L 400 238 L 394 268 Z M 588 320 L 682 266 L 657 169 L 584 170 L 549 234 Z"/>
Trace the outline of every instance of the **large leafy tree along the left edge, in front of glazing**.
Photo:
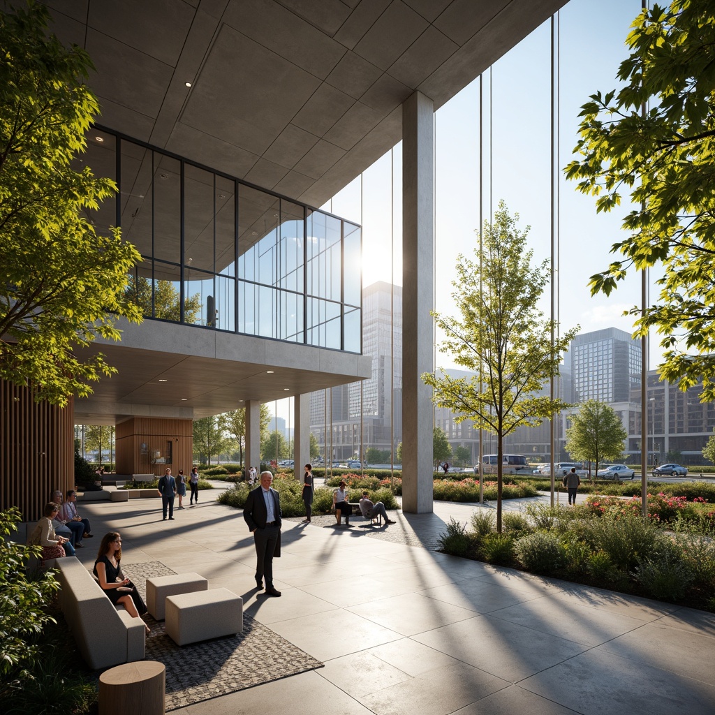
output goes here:
<path id="1" fill-rule="evenodd" d="M 46 34 L 48 21 L 34 2 L 0 12 L 0 378 L 66 405 L 117 372 L 77 349 L 97 335 L 118 340 L 117 317 L 141 321 L 123 300 L 140 256 L 86 217 L 117 187 L 71 168 L 98 112 L 83 84 L 93 68 L 84 50 Z"/>

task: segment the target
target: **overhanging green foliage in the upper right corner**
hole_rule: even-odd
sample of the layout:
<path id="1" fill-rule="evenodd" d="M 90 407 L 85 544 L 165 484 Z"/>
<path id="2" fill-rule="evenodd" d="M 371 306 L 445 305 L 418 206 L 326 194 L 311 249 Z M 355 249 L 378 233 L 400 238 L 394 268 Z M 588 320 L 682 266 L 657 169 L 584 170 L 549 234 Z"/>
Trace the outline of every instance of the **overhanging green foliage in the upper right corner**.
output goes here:
<path id="1" fill-rule="evenodd" d="M 659 265 L 657 302 L 643 317 L 630 311 L 637 334 L 663 336 L 662 377 L 684 390 L 702 379 L 701 400 L 715 400 L 715 1 L 645 10 L 626 44 L 625 84 L 583 105 L 581 156 L 566 167 L 598 211 L 621 192 L 636 207 L 611 248 L 621 258 L 591 277 L 591 291 L 608 295 L 633 268 Z"/>

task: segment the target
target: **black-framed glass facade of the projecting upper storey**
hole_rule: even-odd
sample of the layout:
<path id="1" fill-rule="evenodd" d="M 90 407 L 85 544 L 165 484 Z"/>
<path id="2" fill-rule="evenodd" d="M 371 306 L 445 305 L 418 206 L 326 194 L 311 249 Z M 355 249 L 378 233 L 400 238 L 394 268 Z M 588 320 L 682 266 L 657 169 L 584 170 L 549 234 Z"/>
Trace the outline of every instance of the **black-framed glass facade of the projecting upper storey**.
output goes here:
<path id="1" fill-rule="evenodd" d="M 144 317 L 360 353 L 360 226 L 104 129 L 87 145 L 119 187 L 88 218 L 142 254 Z"/>

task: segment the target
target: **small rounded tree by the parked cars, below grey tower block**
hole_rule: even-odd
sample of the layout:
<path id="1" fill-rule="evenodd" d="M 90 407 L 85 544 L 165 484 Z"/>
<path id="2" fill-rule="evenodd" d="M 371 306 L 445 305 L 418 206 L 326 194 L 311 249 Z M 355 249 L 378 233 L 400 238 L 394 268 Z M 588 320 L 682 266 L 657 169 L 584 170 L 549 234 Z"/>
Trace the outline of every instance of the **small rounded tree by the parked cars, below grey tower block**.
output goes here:
<path id="1" fill-rule="evenodd" d="M 621 459 L 628 433 L 620 418 L 609 405 L 598 400 L 586 400 L 571 415 L 571 427 L 566 430 L 566 451 L 571 459 L 595 462 L 596 473 L 603 459 Z"/>

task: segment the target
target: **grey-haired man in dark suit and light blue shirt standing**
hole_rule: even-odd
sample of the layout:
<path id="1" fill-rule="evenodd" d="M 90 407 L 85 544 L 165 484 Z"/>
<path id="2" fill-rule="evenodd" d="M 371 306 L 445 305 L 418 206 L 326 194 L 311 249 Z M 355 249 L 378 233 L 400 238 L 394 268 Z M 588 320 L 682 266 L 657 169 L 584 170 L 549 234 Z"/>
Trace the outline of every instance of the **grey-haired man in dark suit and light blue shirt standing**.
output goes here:
<path id="1" fill-rule="evenodd" d="M 270 472 L 261 472 L 261 485 L 248 493 L 243 518 L 256 546 L 256 587 L 263 588 L 265 576 L 267 595 L 280 596 L 273 588 L 273 557 L 280 556 L 280 494 L 271 488 L 272 481 Z"/>

